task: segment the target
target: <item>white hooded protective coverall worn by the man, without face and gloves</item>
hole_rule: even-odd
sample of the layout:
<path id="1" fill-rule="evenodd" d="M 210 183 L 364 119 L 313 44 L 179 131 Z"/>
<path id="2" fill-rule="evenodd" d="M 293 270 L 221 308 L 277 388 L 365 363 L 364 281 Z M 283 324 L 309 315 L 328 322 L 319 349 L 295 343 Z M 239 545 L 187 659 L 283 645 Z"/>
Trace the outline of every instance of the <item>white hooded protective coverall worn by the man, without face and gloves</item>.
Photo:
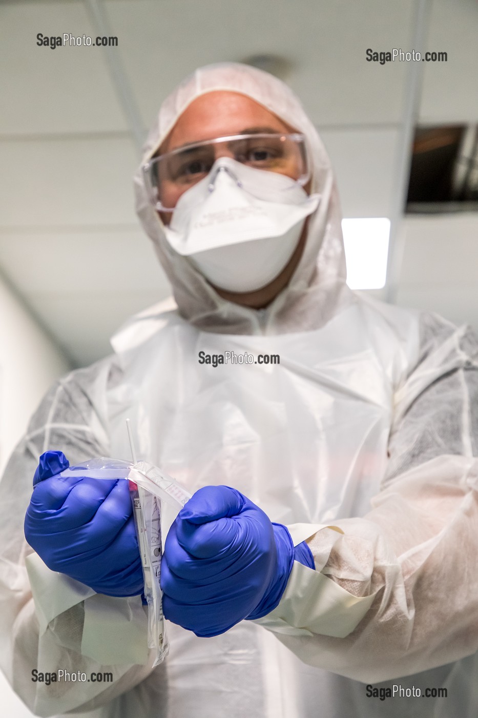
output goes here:
<path id="1" fill-rule="evenodd" d="M 244 93 L 306 135 L 322 199 L 304 254 L 267 309 L 226 302 L 169 247 L 136 174 L 139 217 L 177 308 L 134 317 L 111 357 L 59 381 L 11 457 L 0 485 L 2 668 L 41 716 L 476 718 L 477 342 L 348 289 L 329 159 L 271 75 L 197 70 L 164 102 L 144 161 L 211 90 Z M 273 353 L 280 365 L 200 365 L 200 350 Z M 191 492 L 237 488 L 295 543 L 309 539 L 317 569 L 294 563 L 276 610 L 215 638 L 168 623 L 170 653 L 152 672 L 140 598 L 95 595 L 51 572 L 23 534 L 39 454 L 128 459 L 127 416 L 141 459 Z M 47 686 L 33 668 L 114 680 Z M 448 697 L 380 701 L 365 684 Z"/>

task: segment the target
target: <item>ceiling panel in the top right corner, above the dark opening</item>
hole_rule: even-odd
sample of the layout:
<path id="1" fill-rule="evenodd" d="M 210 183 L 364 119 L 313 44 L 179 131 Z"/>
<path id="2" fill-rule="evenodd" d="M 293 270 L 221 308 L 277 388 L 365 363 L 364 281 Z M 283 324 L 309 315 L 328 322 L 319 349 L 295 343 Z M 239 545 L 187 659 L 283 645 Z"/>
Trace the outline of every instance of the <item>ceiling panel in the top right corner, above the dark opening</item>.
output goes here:
<path id="1" fill-rule="evenodd" d="M 446 62 L 423 62 L 420 121 L 478 121 L 478 3 L 434 0 L 426 50 Z"/>

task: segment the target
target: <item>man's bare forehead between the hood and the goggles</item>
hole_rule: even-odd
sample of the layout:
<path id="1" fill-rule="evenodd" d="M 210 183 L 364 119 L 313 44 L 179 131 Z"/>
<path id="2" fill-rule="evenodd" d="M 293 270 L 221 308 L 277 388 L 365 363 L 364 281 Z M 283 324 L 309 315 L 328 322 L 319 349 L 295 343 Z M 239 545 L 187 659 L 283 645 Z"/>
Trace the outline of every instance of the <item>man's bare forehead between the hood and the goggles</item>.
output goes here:
<path id="1" fill-rule="evenodd" d="M 161 152 L 245 131 L 289 132 L 291 127 L 247 95 L 216 90 L 187 106 L 161 144 Z"/>

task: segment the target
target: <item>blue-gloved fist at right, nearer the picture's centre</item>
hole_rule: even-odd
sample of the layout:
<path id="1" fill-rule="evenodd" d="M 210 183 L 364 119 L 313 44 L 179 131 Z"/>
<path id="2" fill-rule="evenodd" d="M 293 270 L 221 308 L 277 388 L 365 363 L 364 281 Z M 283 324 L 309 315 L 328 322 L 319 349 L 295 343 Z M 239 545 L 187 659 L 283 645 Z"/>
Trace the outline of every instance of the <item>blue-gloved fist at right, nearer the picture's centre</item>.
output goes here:
<path id="1" fill-rule="evenodd" d="M 299 547 L 297 547 L 299 549 Z M 294 558 L 314 568 L 309 546 L 239 491 L 205 486 L 179 511 L 161 561 L 164 616 L 198 636 L 224 633 L 278 605 Z"/>

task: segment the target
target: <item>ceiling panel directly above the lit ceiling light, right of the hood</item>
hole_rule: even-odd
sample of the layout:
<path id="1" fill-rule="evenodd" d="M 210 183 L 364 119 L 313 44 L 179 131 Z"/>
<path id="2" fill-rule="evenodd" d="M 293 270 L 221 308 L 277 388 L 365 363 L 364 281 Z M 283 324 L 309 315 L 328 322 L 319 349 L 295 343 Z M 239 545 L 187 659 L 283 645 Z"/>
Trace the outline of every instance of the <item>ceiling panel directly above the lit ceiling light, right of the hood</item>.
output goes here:
<path id="1" fill-rule="evenodd" d="M 398 131 L 337 129 L 320 135 L 337 177 L 342 215 L 390 217 Z"/>

